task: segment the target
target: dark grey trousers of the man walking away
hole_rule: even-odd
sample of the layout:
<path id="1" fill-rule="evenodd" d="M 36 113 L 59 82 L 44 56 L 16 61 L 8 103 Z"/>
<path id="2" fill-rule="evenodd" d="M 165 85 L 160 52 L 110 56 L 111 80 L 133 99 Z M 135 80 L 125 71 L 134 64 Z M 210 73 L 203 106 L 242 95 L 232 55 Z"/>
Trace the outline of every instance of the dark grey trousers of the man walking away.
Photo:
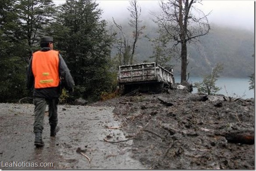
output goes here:
<path id="1" fill-rule="evenodd" d="M 56 126 L 58 123 L 57 105 L 59 103 L 58 98 L 45 99 L 41 97 L 34 97 L 33 103 L 35 105 L 35 122 L 34 122 L 34 133 L 43 132 L 43 120 L 48 103 L 49 109 L 49 124 L 50 126 Z"/>

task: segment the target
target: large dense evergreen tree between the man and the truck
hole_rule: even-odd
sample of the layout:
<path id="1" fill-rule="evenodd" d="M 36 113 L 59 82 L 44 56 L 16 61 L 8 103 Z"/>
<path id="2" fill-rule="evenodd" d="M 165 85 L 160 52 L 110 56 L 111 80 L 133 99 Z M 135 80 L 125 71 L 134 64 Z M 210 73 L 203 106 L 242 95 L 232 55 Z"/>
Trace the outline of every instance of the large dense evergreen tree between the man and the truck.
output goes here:
<path id="1" fill-rule="evenodd" d="M 75 81 L 74 99 L 95 101 L 101 92 L 112 89 L 113 38 L 105 28 L 107 22 L 100 21 L 101 12 L 95 1 L 67 0 L 59 7 L 57 20 L 47 28 Z"/>

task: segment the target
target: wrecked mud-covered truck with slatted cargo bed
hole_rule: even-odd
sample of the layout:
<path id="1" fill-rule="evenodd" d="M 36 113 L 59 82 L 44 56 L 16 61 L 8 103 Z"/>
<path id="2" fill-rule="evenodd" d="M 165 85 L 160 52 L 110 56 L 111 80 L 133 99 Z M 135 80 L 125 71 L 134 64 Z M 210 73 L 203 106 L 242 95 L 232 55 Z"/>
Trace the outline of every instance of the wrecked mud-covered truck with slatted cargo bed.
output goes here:
<path id="1" fill-rule="evenodd" d="M 173 69 L 170 71 L 156 62 L 118 66 L 118 84 L 123 93 L 161 92 L 173 88 Z"/>

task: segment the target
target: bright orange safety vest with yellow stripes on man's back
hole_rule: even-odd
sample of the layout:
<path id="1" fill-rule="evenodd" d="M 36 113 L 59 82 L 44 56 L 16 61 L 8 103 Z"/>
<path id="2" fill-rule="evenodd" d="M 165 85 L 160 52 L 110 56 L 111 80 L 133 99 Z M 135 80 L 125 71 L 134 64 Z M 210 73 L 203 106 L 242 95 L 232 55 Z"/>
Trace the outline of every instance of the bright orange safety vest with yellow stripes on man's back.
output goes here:
<path id="1" fill-rule="evenodd" d="M 59 52 L 50 50 L 33 53 L 32 72 L 36 89 L 57 87 L 60 82 Z"/>

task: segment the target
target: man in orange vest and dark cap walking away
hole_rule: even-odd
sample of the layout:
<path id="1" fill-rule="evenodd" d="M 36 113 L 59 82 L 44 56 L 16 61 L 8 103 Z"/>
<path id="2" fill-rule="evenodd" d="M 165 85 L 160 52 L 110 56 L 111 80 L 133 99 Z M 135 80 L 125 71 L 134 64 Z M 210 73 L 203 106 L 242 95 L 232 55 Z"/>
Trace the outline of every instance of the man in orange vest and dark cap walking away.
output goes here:
<path id="1" fill-rule="evenodd" d="M 33 89 L 33 103 L 35 105 L 35 145 L 42 147 L 43 120 L 48 103 L 50 136 L 55 137 L 60 130 L 57 126 L 57 105 L 61 94 L 61 85 L 72 91 L 75 85 L 69 69 L 58 51 L 53 50 L 53 38 L 43 37 L 40 41 L 41 49 L 33 53 L 27 71 L 27 88 Z"/>

